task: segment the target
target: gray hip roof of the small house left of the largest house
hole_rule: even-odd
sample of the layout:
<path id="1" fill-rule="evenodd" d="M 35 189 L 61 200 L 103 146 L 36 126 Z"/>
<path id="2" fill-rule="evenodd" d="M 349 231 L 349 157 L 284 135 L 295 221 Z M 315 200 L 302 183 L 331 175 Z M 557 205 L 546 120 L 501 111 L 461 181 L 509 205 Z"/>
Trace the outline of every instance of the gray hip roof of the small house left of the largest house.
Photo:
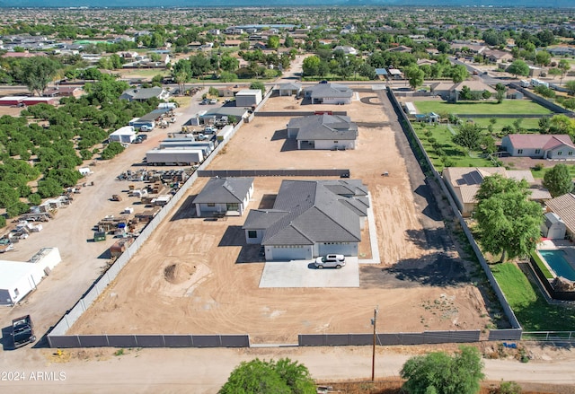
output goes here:
<path id="1" fill-rule="evenodd" d="M 241 203 L 252 184 L 253 178 L 211 178 L 194 198 L 193 204 Z"/>

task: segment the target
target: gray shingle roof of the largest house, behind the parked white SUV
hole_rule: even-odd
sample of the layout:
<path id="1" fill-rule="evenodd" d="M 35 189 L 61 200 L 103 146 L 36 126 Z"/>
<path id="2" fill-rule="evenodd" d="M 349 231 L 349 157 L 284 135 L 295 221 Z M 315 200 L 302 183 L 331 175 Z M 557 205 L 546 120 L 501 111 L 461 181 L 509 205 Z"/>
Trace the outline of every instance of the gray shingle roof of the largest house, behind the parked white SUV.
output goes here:
<path id="1" fill-rule="evenodd" d="M 366 196 L 358 179 L 284 180 L 274 209 L 251 210 L 243 229 L 264 230 L 262 245 L 358 242 Z"/>

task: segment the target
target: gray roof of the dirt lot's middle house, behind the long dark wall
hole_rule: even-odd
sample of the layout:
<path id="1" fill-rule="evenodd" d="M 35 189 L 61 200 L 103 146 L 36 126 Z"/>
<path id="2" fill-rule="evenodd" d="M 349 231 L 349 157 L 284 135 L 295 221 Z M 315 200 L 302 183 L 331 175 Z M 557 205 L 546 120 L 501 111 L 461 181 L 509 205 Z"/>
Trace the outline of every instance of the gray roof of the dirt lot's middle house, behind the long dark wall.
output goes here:
<path id="1" fill-rule="evenodd" d="M 341 115 L 312 115 L 289 120 L 288 128 L 297 129 L 297 140 L 355 140 L 358 125 Z"/>

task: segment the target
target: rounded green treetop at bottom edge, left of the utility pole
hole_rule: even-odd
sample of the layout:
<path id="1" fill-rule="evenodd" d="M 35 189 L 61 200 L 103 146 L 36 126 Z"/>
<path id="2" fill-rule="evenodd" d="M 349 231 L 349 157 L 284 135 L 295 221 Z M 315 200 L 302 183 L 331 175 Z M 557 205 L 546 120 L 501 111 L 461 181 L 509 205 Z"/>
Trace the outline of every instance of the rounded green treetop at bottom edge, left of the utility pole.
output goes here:
<path id="1" fill-rule="evenodd" d="M 276 363 L 258 358 L 240 363 L 219 394 L 314 394 L 315 384 L 304 364 L 288 358 Z"/>

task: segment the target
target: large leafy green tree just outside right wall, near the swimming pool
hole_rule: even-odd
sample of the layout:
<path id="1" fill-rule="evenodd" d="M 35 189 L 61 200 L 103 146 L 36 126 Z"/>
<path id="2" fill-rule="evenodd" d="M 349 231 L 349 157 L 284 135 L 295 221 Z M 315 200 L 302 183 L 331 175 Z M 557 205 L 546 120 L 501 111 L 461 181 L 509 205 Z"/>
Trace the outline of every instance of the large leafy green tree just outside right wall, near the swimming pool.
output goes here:
<path id="1" fill-rule="evenodd" d="M 529 201 L 527 182 L 503 178 L 499 174 L 483 179 L 475 199 L 473 217 L 477 221 L 482 250 L 507 258 L 527 256 L 541 237 L 541 206 Z"/>

